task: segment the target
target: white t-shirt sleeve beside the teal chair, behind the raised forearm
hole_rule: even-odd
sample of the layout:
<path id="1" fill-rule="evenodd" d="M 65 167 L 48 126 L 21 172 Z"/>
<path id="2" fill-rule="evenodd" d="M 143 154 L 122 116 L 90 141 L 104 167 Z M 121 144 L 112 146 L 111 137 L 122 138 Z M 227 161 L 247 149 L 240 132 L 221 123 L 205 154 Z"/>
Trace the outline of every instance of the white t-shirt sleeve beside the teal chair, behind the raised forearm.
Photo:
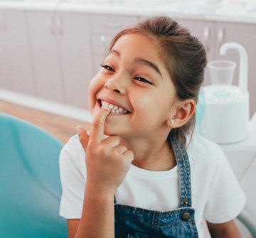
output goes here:
<path id="1" fill-rule="evenodd" d="M 60 152 L 60 180 L 62 197 L 60 216 L 66 219 L 79 219 L 85 192 L 85 153 L 77 137 L 68 141 Z"/>

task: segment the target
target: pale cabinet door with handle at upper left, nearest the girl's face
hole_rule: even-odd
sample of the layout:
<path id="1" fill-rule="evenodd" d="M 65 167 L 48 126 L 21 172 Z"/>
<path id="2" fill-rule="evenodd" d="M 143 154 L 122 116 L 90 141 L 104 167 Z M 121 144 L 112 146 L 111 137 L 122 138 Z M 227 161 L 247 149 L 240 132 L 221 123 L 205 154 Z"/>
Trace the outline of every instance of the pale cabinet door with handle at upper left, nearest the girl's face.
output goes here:
<path id="1" fill-rule="evenodd" d="M 90 32 L 87 15 L 61 13 L 57 19 L 65 102 L 87 108 L 87 88 L 92 79 Z"/>

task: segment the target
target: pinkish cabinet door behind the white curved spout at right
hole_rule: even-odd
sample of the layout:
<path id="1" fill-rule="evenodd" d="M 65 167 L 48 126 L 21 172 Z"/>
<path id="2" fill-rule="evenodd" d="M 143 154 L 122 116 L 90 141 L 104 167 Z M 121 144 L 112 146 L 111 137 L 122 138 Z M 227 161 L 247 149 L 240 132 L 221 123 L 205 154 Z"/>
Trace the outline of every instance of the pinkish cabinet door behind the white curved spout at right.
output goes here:
<path id="1" fill-rule="evenodd" d="M 256 25 L 247 23 L 216 23 L 216 58 L 233 60 L 237 63 L 233 84 L 238 85 L 239 76 L 239 54 L 237 50 L 228 50 L 225 56 L 219 54 L 219 48 L 223 43 L 235 42 L 242 45 L 247 51 L 249 71 L 248 71 L 248 91 L 250 93 L 250 116 L 256 112 Z"/>

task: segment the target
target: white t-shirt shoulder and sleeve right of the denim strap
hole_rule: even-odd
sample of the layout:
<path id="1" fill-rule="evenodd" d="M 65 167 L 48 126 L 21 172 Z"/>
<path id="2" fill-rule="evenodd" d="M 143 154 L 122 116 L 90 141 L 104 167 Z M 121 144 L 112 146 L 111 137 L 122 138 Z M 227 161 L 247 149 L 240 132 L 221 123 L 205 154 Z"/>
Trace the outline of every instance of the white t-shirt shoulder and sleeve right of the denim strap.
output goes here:
<path id="1" fill-rule="evenodd" d="M 236 217 L 245 195 L 222 149 L 194 134 L 188 146 L 193 207 L 208 222 L 223 223 Z"/>

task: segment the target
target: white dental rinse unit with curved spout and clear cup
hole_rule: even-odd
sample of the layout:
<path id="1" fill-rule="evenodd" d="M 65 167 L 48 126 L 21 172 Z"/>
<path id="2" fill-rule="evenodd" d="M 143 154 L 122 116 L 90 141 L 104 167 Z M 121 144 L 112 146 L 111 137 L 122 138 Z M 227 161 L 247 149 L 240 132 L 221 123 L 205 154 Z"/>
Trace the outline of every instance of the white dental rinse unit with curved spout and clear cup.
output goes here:
<path id="1" fill-rule="evenodd" d="M 232 70 L 234 70 L 232 62 L 226 61 L 224 65 L 221 65 L 220 61 L 223 60 L 219 60 L 217 63 L 220 63 L 220 65 L 217 65 L 215 69 L 213 68 L 216 75 L 211 74 L 214 77 L 211 79 L 213 84 L 203 87 L 205 112 L 201 131 L 203 136 L 218 144 L 237 143 L 246 139 L 248 135 L 249 93 L 247 91 L 247 53 L 245 48 L 238 43 L 225 43 L 220 47 L 220 55 L 225 55 L 229 49 L 238 50 L 240 54 L 239 85 L 231 85 Z M 227 66 L 228 63 L 230 63 L 229 66 Z M 216 70 L 220 70 L 220 72 L 216 72 Z M 226 74 L 225 70 L 230 72 Z M 226 75 L 225 77 L 231 77 L 231 80 L 216 78 L 218 75 L 222 75 L 220 77 Z"/>

